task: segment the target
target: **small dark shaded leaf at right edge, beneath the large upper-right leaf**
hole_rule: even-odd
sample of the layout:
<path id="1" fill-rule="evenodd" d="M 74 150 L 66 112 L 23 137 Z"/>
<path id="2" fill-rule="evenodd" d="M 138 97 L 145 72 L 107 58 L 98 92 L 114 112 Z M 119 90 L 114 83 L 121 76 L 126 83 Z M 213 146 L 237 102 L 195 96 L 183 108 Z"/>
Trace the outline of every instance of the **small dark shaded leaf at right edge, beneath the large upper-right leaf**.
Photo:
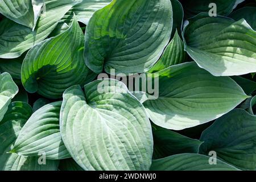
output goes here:
<path id="1" fill-rule="evenodd" d="M 250 95 L 251 93 L 253 93 L 254 90 L 256 90 L 256 82 L 254 81 L 248 80 L 240 76 L 232 76 L 231 78 L 242 87 L 247 95 Z"/>

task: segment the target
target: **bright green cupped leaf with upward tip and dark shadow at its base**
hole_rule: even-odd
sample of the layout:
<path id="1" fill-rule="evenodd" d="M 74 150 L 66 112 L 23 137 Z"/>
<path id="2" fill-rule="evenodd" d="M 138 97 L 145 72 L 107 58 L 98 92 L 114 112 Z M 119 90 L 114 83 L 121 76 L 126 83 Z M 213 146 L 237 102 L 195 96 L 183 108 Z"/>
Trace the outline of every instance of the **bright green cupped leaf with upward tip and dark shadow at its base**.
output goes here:
<path id="1" fill-rule="evenodd" d="M 83 48 L 84 34 L 74 19 L 67 31 L 28 51 L 21 73 L 24 88 L 47 98 L 61 98 L 65 89 L 84 84 L 89 69 L 84 63 Z"/>

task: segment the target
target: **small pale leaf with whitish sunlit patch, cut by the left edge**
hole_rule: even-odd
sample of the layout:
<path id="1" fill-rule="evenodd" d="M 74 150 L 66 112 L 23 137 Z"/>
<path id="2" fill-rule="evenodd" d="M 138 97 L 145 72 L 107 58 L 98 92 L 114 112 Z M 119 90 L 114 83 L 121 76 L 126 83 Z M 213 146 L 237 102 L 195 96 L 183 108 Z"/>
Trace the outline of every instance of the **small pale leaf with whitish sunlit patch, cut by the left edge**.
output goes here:
<path id="1" fill-rule="evenodd" d="M 11 103 L 11 99 L 18 93 L 18 90 L 18 86 L 9 73 L 0 75 L 0 122 Z"/>

